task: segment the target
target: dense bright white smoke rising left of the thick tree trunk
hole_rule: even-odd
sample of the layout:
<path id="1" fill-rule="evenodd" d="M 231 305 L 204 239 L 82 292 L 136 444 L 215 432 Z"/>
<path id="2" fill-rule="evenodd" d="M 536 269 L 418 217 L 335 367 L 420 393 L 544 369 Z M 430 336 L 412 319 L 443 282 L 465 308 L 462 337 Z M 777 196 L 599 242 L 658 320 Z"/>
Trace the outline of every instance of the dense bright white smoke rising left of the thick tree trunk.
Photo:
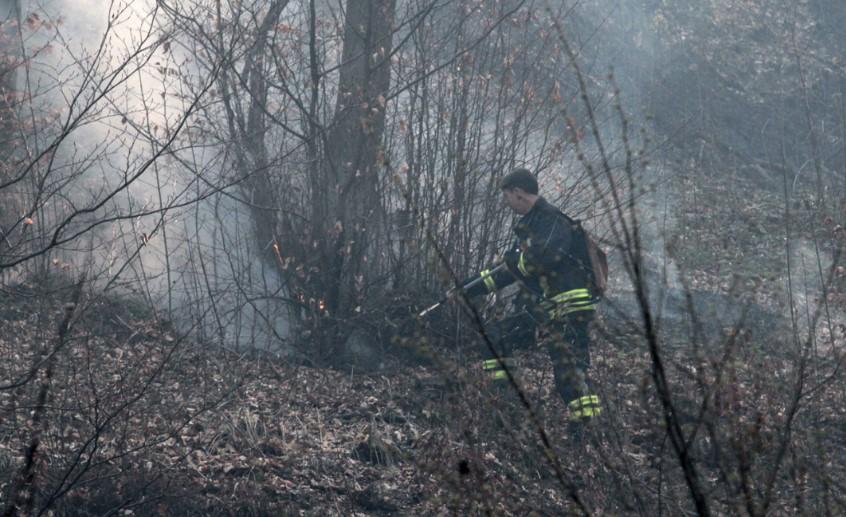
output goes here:
<path id="1" fill-rule="evenodd" d="M 225 346 L 286 337 L 278 279 L 255 259 L 237 184 L 220 180 L 225 146 L 202 140 L 191 111 L 214 78 L 156 2 L 32 2 L 22 20 L 22 155 L 42 178 L 25 192 L 41 231 L 29 244 L 67 239 L 46 267 L 87 271 Z"/>

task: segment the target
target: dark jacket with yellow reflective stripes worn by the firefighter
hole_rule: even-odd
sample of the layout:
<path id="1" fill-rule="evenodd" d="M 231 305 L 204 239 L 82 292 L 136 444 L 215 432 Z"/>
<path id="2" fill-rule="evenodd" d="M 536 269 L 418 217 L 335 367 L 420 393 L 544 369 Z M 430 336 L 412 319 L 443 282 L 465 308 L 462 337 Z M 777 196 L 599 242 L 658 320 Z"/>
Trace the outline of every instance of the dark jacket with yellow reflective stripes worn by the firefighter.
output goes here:
<path id="1" fill-rule="evenodd" d="M 535 296 L 552 319 L 578 311 L 594 310 L 597 299 L 590 292 L 592 269 L 583 232 L 578 223 L 539 197 L 514 226 L 517 240 L 504 256 L 507 269 L 485 269 L 465 281 L 483 281 L 467 289 L 478 296 L 514 282 Z"/>

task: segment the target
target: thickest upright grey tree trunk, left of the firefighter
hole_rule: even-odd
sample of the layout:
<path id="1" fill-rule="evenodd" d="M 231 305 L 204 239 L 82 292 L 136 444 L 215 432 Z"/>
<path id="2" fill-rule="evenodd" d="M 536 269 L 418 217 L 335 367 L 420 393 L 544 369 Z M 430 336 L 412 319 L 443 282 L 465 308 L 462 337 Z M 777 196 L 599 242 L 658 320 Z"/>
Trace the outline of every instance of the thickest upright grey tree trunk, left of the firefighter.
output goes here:
<path id="1" fill-rule="evenodd" d="M 385 97 L 391 80 L 390 50 L 396 0 L 349 0 L 333 124 L 327 134 L 326 214 L 316 219 L 329 240 L 327 308 L 340 318 L 361 300 L 369 235 L 381 213 Z"/>

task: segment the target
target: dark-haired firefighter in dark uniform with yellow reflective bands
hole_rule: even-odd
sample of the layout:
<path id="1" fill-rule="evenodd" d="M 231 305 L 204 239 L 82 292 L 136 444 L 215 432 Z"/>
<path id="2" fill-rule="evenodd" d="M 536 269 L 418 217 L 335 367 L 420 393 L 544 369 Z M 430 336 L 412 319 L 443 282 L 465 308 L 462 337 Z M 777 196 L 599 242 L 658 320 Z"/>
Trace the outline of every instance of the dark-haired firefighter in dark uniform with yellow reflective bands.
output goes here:
<path id="1" fill-rule="evenodd" d="M 538 195 L 538 183 L 527 169 L 516 169 L 500 182 L 504 203 L 520 219 L 514 246 L 504 254 L 506 268 L 485 269 L 463 285 L 468 297 L 498 291 L 518 282 L 515 312 L 487 329 L 496 357 L 482 361 L 494 383 L 507 384 L 505 369 L 512 352 L 534 343 L 535 331 L 547 335 L 555 386 L 569 412 L 570 433 L 581 436 L 585 423 L 600 411 L 599 397 L 589 388 L 588 327 L 598 297 L 584 233 L 577 223 Z M 478 281 L 481 280 L 481 281 Z M 488 355 L 490 350 L 486 350 Z"/>

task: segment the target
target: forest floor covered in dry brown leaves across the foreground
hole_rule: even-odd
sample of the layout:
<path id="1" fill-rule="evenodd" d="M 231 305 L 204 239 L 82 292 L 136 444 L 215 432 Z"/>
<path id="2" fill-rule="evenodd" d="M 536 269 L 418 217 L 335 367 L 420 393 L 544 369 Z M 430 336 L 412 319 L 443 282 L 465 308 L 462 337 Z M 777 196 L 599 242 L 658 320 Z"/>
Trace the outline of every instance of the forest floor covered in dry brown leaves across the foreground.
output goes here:
<path id="1" fill-rule="evenodd" d="M 596 340 L 592 376 L 604 413 L 574 443 L 542 349 L 518 356 L 530 413 L 513 389 L 491 390 L 472 358 L 450 351 L 441 356 L 449 366 L 378 375 L 293 366 L 200 346 L 130 302 L 88 303 L 59 339 L 61 301 L 30 287 L 2 291 L 4 505 L 32 487 L 32 501 L 19 504 L 73 515 L 652 515 L 692 508 L 641 336 Z M 799 366 L 789 350 L 762 350 L 742 332 L 727 334 L 713 353 L 665 345 L 675 411 L 715 507 L 732 512 L 761 505 L 766 495 L 776 511 L 820 508 L 810 496 L 779 489 L 802 483 L 813 495 L 823 486 L 808 474 L 814 465 L 800 461 L 806 456 L 825 465 L 828 486 L 846 480 L 836 454 L 846 444 L 843 387 L 822 382 L 838 375 L 839 361 L 804 363 L 814 372 L 803 374 L 814 405 L 797 416 L 788 388 Z M 29 375 L 33 364 L 39 368 Z M 20 386 L 8 386 L 16 381 Z M 775 456 L 785 433 L 795 438 L 786 442 L 790 454 Z M 821 447 L 829 452 L 820 455 Z M 760 492 L 751 498 L 726 474 L 744 458 L 752 458 L 748 484 Z M 767 465 L 778 465 L 775 491 L 765 492 Z M 31 482 L 21 485 L 26 472 Z M 846 509 L 837 496 L 825 504 Z"/>

